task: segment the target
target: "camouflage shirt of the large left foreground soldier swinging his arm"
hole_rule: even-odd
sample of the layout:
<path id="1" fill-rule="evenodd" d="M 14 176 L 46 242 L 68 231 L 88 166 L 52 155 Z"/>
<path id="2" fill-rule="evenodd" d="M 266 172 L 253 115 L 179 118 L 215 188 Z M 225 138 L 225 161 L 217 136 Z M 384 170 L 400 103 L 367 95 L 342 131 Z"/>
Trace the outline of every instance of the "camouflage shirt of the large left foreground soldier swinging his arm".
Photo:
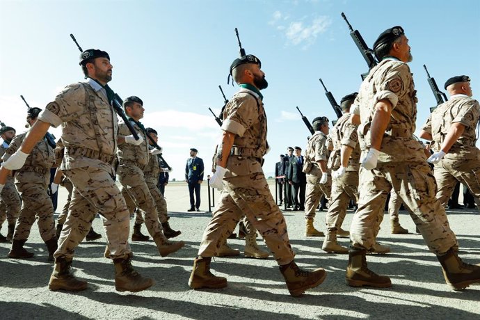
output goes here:
<path id="1" fill-rule="evenodd" d="M 65 157 L 61 170 L 86 166 L 111 170 L 118 120 L 105 89 L 93 79 L 67 86 L 38 119 L 52 127 L 62 126 Z"/>

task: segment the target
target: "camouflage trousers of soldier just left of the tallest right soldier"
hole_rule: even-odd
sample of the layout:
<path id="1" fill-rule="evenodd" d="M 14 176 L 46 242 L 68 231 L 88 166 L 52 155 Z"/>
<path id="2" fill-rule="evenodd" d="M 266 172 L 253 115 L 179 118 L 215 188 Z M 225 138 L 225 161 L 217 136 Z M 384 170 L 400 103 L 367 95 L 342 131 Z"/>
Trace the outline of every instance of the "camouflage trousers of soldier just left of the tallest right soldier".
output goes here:
<path id="1" fill-rule="evenodd" d="M 328 231 L 342 227 L 350 199 L 358 201 L 358 171 L 346 171 L 342 177 L 333 179 L 332 194 L 325 216 Z"/>

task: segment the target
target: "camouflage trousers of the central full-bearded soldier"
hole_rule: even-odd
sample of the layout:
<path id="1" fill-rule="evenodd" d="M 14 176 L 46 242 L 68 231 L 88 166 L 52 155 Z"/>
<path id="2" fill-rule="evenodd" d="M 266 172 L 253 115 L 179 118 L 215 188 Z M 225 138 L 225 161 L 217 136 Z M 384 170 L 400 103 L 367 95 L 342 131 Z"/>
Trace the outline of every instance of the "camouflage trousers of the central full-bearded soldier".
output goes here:
<path id="1" fill-rule="evenodd" d="M 263 173 L 223 179 L 221 198 L 203 233 L 198 255 L 213 257 L 243 215 L 265 240 L 278 264 L 294 259 L 282 211 L 278 209 Z"/>

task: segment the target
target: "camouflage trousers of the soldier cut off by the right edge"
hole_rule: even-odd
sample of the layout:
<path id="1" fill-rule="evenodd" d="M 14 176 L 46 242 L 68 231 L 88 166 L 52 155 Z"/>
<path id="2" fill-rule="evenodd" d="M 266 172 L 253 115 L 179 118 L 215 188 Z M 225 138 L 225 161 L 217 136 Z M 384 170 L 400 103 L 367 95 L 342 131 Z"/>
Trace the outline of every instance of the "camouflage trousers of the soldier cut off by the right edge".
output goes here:
<path id="1" fill-rule="evenodd" d="M 444 158 L 433 168 L 433 175 L 437 180 L 437 198 L 443 206 L 447 205 L 457 182 L 461 182 L 474 195 L 475 203 L 480 209 L 480 163 L 478 160 L 459 161 Z"/>

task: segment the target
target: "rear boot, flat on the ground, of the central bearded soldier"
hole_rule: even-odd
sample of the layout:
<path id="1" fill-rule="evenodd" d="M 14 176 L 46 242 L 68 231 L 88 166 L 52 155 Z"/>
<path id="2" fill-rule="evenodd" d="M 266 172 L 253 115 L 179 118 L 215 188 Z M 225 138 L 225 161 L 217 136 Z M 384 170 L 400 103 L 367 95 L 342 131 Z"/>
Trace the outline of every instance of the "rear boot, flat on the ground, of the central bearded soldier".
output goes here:
<path id="1" fill-rule="evenodd" d="M 193 262 L 193 270 L 189 279 L 189 287 L 200 288 L 224 288 L 227 287 L 227 278 L 216 277 L 210 272 L 211 257 L 198 257 Z"/>

